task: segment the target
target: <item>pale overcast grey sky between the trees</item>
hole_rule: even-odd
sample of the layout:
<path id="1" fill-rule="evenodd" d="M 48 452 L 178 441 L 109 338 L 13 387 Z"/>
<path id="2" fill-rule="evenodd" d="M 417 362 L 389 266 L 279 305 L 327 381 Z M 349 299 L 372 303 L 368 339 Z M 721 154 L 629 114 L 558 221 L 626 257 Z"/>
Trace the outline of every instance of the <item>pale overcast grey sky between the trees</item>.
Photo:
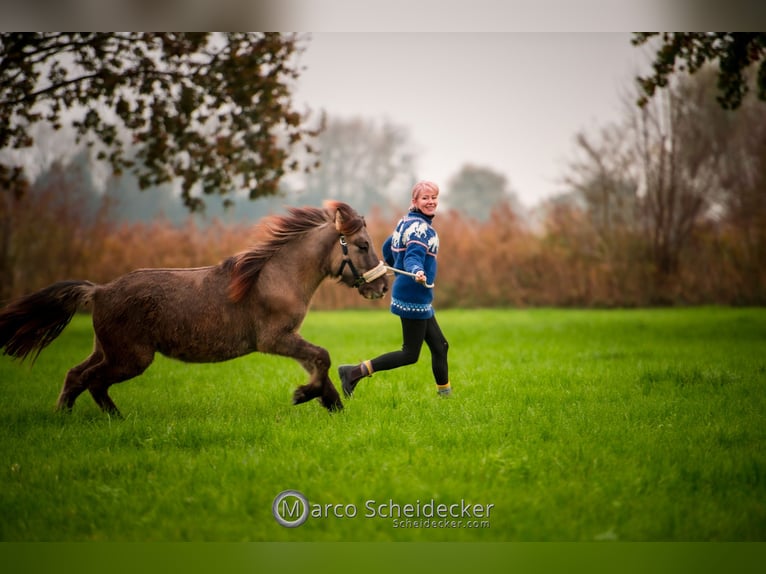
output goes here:
<path id="1" fill-rule="evenodd" d="M 630 37 L 312 33 L 294 103 L 402 126 L 418 178 L 445 189 L 465 164 L 487 167 L 531 207 L 565 190 L 578 132 L 624 116 L 634 78 L 650 62 Z"/>

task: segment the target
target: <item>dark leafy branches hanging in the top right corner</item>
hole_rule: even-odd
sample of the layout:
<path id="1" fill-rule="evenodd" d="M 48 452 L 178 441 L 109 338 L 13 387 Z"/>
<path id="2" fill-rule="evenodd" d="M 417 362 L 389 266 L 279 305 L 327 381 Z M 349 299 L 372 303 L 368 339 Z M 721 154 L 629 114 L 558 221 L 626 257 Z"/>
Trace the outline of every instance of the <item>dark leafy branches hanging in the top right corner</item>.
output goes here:
<path id="1" fill-rule="evenodd" d="M 657 88 L 668 85 L 677 71 L 694 74 L 707 62 L 718 60 L 718 102 L 724 109 L 737 109 L 748 92 L 746 71 L 758 64 L 757 93 L 766 100 L 766 33 L 764 32 L 637 32 L 632 43 L 640 46 L 660 36 L 654 73 L 638 78 L 645 106 Z M 681 63 L 677 64 L 677 61 Z"/>

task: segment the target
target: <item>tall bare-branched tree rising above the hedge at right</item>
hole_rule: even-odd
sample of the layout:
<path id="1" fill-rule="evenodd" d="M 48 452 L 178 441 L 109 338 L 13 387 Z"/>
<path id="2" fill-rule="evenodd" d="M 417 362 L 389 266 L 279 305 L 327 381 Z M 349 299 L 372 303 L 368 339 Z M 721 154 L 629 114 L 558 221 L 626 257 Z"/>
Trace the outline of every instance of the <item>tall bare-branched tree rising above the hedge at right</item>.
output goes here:
<path id="1" fill-rule="evenodd" d="M 567 181 L 587 208 L 600 257 L 614 270 L 648 264 L 655 300 L 672 297 L 684 254 L 720 209 L 724 176 L 736 171 L 724 168 L 741 112 L 716 102 L 716 75 L 712 66 L 679 75 L 643 107 L 626 106 L 624 123 L 577 139 L 581 155 Z"/>

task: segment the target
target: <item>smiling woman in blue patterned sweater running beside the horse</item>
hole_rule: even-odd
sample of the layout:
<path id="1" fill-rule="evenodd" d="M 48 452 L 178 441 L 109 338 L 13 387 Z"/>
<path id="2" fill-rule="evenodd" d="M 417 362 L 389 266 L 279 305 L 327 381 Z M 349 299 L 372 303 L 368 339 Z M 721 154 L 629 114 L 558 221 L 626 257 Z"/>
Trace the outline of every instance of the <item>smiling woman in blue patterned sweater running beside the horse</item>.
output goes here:
<path id="1" fill-rule="evenodd" d="M 398 315 L 402 322 L 402 348 L 358 365 L 339 366 L 338 375 L 347 397 L 353 394 L 363 377 L 369 377 L 376 371 L 416 363 L 423 341 L 431 351 L 431 368 L 437 392 L 442 396 L 452 392 L 447 365 L 449 345 L 431 306 L 439 251 L 439 236 L 431 227 L 431 221 L 438 204 L 439 187 L 435 183 L 416 183 L 412 188 L 409 213 L 383 243 L 386 263 L 406 273 L 397 274 L 391 298 L 391 312 Z"/>

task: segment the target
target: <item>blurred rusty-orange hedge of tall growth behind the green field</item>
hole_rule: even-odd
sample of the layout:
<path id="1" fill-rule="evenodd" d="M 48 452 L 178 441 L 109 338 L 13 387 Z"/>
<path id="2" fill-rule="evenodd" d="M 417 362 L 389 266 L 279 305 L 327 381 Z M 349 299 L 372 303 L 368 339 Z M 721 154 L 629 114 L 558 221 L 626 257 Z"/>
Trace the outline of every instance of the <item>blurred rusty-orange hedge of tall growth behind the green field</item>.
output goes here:
<path id="1" fill-rule="evenodd" d="M 366 219 L 380 249 L 395 218 L 373 211 Z M 140 267 L 215 264 L 252 244 L 255 222 L 119 221 L 109 198 L 96 202 L 62 177 L 6 203 L 2 223 L 0 295 L 7 301 L 62 279 L 106 282 Z M 678 264 L 663 270 L 640 228 L 615 228 L 605 238 L 576 202 L 549 205 L 534 230 L 506 205 L 486 221 L 445 211 L 434 224 L 439 308 L 766 304 L 766 226 L 705 220 Z M 314 301 L 323 309 L 386 305 L 331 280 Z"/>

